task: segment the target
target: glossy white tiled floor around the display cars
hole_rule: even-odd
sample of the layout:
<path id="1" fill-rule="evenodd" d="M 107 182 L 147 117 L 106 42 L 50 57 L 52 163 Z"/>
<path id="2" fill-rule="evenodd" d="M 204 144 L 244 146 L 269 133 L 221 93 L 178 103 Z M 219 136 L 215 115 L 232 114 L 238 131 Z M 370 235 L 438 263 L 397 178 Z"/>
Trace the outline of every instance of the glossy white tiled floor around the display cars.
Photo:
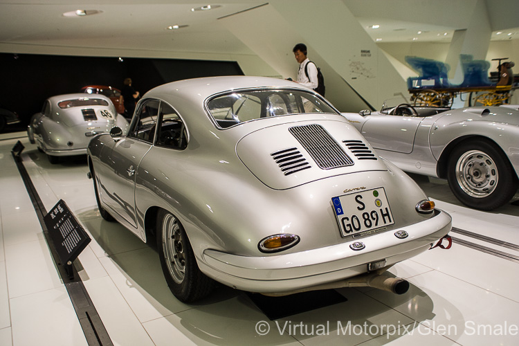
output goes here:
<path id="1" fill-rule="evenodd" d="M 392 268 L 411 283 L 405 295 L 340 289 L 346 302 L 275 321 L 226 287 L 183 304 L 154 248 L 100 217 L 86 163 L 51 165 L 24 133 L 0 136 L 0 345 L 86 345 L 10 154 L 17 140 L 46 210 L 64 199 L 91 234 L 76 267 L 114 345 L 519 345 L 519 263 L 459 244 Z M 519 244 L 519 206 L 470 210 L 444 181 L 416 179 L 453 226 Z"/>

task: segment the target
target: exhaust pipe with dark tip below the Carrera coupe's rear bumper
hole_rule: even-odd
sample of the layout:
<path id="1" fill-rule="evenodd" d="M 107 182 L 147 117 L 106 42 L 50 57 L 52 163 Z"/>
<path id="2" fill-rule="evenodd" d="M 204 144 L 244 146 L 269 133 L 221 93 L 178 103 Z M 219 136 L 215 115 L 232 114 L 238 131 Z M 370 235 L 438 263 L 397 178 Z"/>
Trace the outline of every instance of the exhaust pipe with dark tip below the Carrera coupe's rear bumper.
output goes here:
<path id="1" fill-rule="evenodd" d="M 403 294 L 409 290 L 409 282 L 401 277 L 390 277 L 385 274 L 390 266 L 381 268 L 378 271 L 349 277 L 344 280 L 329 282 L 327 284 L 320 284 L 318 286 L 305 287 L 294 291 L 279 292 L 279 293 L 262 293 L 271 297 L 281 297 L 283 295 L 291 295 L 295 293 L 302 293 L 307 291 L 318 291 L 322 289 L 342 289 L 344 287 L 373 287 L 374 289 L 381 289 L 396 294 Z"/>

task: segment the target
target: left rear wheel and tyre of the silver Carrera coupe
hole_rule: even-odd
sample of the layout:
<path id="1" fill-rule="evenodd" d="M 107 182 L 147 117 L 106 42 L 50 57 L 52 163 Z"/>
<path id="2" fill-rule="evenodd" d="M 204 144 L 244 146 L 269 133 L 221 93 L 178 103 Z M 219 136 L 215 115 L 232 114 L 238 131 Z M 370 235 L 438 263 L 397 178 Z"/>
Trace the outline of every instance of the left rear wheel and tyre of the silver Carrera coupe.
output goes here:
<path id="1" fill-rule="evenodd" d="M 199 300 L 212 291 L 214 281 L 203 274 L 180 221 L 170 212 L 157 215 L 157 249 L 167 286 L 182 302 Z"/>

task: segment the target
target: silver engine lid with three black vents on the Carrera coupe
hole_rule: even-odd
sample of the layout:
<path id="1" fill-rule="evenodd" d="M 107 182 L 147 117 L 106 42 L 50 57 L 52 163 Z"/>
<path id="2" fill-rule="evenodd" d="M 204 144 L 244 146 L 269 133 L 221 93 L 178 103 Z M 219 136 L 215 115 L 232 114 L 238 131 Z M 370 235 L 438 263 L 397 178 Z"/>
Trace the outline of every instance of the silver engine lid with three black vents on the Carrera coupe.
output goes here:
<path id="1" fill-rule="evenodd" d="M 239 140 L 236 152 L 257 179 L 275 190 L 340 174 L 387 170 L 365 138 L 338 120 L 266 127 Z"/>

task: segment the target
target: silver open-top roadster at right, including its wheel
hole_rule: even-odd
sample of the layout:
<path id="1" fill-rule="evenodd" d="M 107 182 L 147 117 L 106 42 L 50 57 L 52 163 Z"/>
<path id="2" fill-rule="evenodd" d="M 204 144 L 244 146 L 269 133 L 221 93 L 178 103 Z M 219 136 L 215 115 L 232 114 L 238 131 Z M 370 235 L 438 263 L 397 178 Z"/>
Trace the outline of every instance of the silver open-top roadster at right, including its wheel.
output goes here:
<path id="1" fill-rule="evenodd" d="M 455 197 L 471 208 L 492 210 L 516 194 L 518 110 L 390 102 L 373 113 L 343 113 L 381 156 L 406 172 L 447 179 Z"/>

